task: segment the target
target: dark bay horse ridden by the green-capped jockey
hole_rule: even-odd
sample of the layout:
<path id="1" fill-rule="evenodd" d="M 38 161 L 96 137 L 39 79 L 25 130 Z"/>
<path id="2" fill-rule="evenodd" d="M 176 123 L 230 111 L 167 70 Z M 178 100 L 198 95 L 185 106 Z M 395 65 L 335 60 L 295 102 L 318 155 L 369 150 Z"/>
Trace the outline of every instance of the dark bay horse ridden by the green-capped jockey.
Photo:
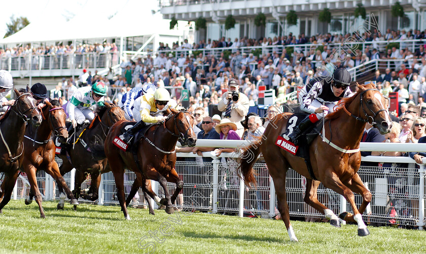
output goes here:
<path id="1" fill-rule="evenodd" d="M 87 174 L 91 175 L 91 184 L 89 192 L 84 195 L 84 199 L 95 201 L 98 198 L 98 188 L 100 184 L 100 175 L 109 172 L 108 161 L 106 158 L 95 160 L 89 149 L 89 144 L 96 141 L 96 139 L 105 139 L 111 126 L 119 120 L 124 119 L 124 111 L 120 107 L 105 103 L 105 106 L 97 107 L 95 109 L 96 117 L 93 119 L 90 126 L 86 129 L 82 128 L 78 132 L 74 146 L 70 145 L 67 148 L 69 160 L 66 155 L 57 155 L 62 159 L 63 163 L 60 167 L 61 175 L 68 173 L 73 168 L 76 168 L 75 187 L 73 194 L 76 199 L 79 198 L 81 192 L 81 184 L 86 179 Z M 83 132 L 83 133 L 82 133 Z M 74 134 L 73 134 L 74 135 Z M 68 139 L 74 142 L 74 137 L 70 136 Z M 59 206 L 63 207 L 64 200 L 61 199 Z M 77 208 L 76 206 L 74 207 Z"/>

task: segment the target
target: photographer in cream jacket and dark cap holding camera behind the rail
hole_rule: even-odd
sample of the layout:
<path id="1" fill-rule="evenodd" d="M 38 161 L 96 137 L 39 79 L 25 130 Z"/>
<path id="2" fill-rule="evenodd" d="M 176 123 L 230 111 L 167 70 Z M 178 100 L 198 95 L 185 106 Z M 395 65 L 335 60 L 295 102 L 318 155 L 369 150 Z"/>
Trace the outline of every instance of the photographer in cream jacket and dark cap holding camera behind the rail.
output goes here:
<path id="1" fill-rule="evenodd" d="M 228 81 L 229 91 L 225 92 L 222 100 L 218 104 L 218 109 L 222 111 L 222 119 L 229 118 L 237 125 L 236 133 L 241 137 L 244 132 L 242 121 L 248 113 L 248 98 L 244 93 L 239 92 L 239 84 L 236 79 Z"/>

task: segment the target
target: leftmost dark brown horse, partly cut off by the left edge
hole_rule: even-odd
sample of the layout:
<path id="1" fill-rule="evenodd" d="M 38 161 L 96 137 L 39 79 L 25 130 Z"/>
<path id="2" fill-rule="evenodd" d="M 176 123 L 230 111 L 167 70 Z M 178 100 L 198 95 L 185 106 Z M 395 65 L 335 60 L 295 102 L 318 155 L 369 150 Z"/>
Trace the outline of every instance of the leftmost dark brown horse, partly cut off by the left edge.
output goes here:
<path id="1" fill-rule="evenodd" d="M 34 126 L 40 126 L 42 116 L 35 107 L 36 101 L 32 98 L 29 86 L 26 89 L 15 89 L 16 100 L 6 114 L 0 119 L 0 172 L 5 173 L 5 178 L 0 190 L 0 213 L 9 203 L 19 176 L 18 169 L 22 165 L 24 152 L 25 125 L 30 121 Z"/>

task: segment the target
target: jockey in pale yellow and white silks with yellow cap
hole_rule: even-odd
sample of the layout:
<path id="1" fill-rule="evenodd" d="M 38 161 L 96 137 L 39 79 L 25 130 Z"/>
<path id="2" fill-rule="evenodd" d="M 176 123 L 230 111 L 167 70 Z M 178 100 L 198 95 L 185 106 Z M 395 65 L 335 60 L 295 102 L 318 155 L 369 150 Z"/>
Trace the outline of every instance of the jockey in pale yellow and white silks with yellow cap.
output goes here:
<path id="1" fill-rule="evenodd" d="M 156 123 L 166 120 L 166 117 L 161 113 L 170 106 L 173 107 L 171 105 L 172 102 L 174 101 L 170 100 L 170 93 L 165 88 L 158 88 L 154 94 L 146 93 L 137 98 L 134 103 L 133 114 L 135 120 L 139 121 L 123 134 L 123 141 L 129 143 L 132 137 L 147 125 L 146 123 Z"/>

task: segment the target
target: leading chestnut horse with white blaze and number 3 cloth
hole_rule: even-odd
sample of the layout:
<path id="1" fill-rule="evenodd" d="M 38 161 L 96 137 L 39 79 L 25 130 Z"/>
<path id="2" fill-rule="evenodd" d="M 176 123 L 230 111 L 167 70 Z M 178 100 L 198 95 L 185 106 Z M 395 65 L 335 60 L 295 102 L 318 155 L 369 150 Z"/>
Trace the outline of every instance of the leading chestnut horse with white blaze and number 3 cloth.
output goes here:
<path id="1" fill-rule="evenodd" d="M 304 201 L 325 214 L 333 226 L 340 227 L 340 221 L 333 211 L 317 200 L 316 190 L 320 182 L 327 188 L 343 195 L 350 204 L 353 214 L 342 213 L 339 217 L 346 221 L 356 222 L 358 235 L 369 234 L 361 214 L 371 201 L 371 193 L 365 188 L 357 173 L 361 164 L 361 153 L 358 148 L 366 122 L 372 123 L 381 134 L 385 134 L 392 128 L 392 121 L 384 109 L 383 97 L 373 84 L 358 85 L 358 88 L 359 91 L 354 96 L 344 99 L 341 109 L 326 116 L 325 136 L 331 143 L 323 142 L 322 138 L 318 136 L 309 147 L 314 177 L 309 174 L 303 158 L 297 157 L 275 144 L 278 135 L 285 130 L 291 114 L 280 114 L 274 119 L 274 124 L 268 124 L 263 143 L 255 142 L 243 149 L 238 173 L 242 174 L 248 185 L 256 183 L 253 165 L 259 153 L 263 153 L 269 174 L 274 181 L 279 201 L 278 210 L 292 241 L 297 241 L 297 238 L 290 224 L 287 204 L 286 173 L 289 168 L 293 168 L 306 177 Z M 358 193 L 363 198 L 359 209 L 354 202 L 353 193 Z"/>

